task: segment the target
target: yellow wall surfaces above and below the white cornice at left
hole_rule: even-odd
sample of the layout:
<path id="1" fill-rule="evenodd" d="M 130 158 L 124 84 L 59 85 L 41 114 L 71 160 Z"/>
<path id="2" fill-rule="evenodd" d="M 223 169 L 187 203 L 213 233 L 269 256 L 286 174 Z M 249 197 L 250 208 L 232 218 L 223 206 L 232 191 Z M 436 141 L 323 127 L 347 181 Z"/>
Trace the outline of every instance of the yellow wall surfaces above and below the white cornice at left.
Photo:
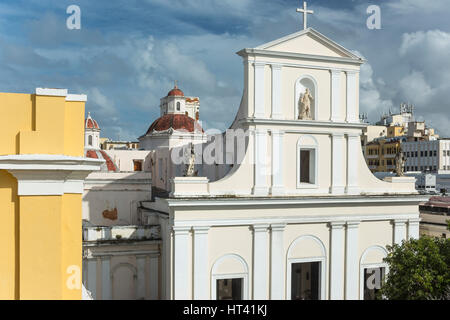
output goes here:
<path id="1" fill-rule="evenodd" d="M 82 157 L 84 104 L 0 93 L 0 155 Z M 81 194 L 18 196 L 17 184 L 0 170 L 0 299 L 81 299 L 67 286 L 81 284 Z"/>

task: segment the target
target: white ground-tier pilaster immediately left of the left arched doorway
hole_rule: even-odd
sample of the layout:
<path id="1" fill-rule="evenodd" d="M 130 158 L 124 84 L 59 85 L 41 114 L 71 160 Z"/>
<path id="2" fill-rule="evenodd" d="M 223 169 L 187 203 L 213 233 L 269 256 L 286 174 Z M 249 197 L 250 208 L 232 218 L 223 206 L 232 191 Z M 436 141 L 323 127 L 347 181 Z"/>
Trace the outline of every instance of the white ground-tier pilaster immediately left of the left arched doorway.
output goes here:
<path id="1" fill-rule="evenodd" d="M 194 227 L 194 299 L 209 299 L 208 288 L 208 230 Z"/>

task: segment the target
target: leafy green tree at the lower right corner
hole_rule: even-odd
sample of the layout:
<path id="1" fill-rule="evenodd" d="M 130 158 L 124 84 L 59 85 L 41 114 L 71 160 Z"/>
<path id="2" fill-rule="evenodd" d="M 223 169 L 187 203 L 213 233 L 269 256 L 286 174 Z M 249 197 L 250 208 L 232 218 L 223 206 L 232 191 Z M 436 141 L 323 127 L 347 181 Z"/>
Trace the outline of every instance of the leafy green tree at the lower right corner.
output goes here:
<path id="1" fill-rule="evenodd" d="M 448 299 L 449 239 L 421 237 L 387 248 L 389 274 L 380 294 L 390 300 Z"/>

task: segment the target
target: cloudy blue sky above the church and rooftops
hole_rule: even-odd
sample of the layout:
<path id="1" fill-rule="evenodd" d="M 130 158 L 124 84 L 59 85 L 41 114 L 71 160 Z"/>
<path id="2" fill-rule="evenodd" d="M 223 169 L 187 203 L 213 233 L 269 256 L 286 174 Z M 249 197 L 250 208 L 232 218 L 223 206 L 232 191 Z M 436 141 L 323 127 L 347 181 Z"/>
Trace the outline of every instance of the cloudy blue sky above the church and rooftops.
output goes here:
<path id="1" fill-rule="evenodd" d="M 81 8 L 81 30 L 66 9 Z M 450 136 L 449 0 L 311 0 L 309 25 L 367 59 L 361 112 L 377 120 L 401 102 Z M 366 10 L 381 8 L 381 30 Z M 242 95 L 235 52 L 299 31 L 298 0 L 2 0 L 0 91 L 86 93 L 102 136 L 136 139 L 178 80 L 199 96 L 205 128 L 225 129 Z"/>

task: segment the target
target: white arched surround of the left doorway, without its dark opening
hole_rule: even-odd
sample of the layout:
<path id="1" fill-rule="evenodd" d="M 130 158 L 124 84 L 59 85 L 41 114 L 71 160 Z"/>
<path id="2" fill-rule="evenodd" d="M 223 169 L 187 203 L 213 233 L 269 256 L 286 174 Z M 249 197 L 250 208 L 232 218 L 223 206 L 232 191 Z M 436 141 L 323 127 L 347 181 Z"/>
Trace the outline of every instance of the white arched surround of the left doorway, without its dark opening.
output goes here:
<path id="1" fill-rule="evenodd" d="M 217 259 L 211 270 L 211 299 L 217 299 L 217 280 L 243 279 L 242 297 L 249 298 L 248 294 L 248 265 L 244 258 L 237 254 L 226 254 Z"/>

